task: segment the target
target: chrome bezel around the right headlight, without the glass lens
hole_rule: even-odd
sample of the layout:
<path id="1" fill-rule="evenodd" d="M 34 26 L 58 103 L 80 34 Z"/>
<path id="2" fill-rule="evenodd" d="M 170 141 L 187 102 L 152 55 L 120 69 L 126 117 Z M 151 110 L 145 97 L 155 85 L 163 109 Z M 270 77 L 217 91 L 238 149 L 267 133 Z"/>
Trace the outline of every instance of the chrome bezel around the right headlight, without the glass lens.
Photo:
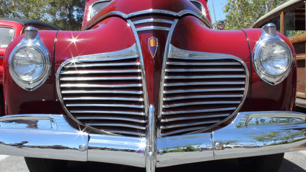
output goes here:
<path id="1" fill-rule="evenodd" d="M 253 52 L 253 64 L 256 70 L 256 73 L 258 74 L 258 76 L 264 80 L 265 82 L 267 82 L 268 84 L 271 85 L 276 85 L 280 82 L 282 82 L 282 80 L 284 80 L 288 74 L 290 73 L 291 70 L 291 66 L 292 66 L 292 61 L 293 61 L 293 54 L 292 51 L 289 47 L 289 45 L 287 43 L 285 43 L 285 41 L 279 37 L 279 35 L 276 33 L 276 35 L 269 35 L 264 31 L 264 28 L 267 27 L 275 27 L 274 24 L 267 24 L 265 26 L 263 26 L 262 28 L 262 35 L 259 39 L 259 41 L 256 43 L 255 48 L 254 48 L 254 52 Z M 263 68 L 261 62 L 260 62 L 260 53 L 263 50 L 263 47 L 265 47 L 267 44 L 271 43 L 271 42 L 277 42 L 280 43 L 282 46 L 284 46 L 288 52 L 289 52 L 289 64 L 286 67 L 286 69 L 284 71 L 282 71 L 281 73 L 278 73 L 276 75 L 271 74 L 269 72 L 266 71 L 266 69 Z"/>

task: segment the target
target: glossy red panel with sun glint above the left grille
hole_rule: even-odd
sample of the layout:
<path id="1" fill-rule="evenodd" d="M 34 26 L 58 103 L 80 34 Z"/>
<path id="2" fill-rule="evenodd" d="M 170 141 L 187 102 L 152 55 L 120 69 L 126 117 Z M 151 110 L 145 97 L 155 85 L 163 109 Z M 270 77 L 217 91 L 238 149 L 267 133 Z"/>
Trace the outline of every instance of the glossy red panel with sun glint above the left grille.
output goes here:
<path id="1" fill-rule="evenodd" d="M 135 37 L 126 21 L 110 17 L 88 31 L 59 31 L 55 43 L 55 63 L 69 58 L 123 50 L 131 47 Z"/>

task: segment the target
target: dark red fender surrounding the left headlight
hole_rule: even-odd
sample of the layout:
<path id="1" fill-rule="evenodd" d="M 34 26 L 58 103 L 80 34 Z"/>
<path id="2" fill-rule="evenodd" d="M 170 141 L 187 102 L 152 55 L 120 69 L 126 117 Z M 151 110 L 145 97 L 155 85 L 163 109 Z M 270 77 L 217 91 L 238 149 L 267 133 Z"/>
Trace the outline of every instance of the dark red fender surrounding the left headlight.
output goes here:
<path id="1" fill-rule="evenodd" d="M 42 42 L 49 50 L 53 61 L 54 39 L 57 31 L 40 31 Z M 12 114 L 54 114 L 54 65 L 46 82 L 33 91 L 27 91 L 18 86 L 12 79 L 8 59 L 13 48 L 23 36 L 14 39 L 6 50 L 4 57 L 3 90 L 6 104 L 6 115 Z"/>

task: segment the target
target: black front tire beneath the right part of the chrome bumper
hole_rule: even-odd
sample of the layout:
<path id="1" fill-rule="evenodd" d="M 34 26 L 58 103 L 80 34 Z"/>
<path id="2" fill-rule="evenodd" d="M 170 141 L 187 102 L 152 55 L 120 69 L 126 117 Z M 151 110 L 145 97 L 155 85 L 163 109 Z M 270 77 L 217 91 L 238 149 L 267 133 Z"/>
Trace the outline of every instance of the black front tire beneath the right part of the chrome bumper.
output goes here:
<path id="1" fill-rule="evenodd" d="M 284 153 L 238 158 L 241 171 L 278 172 L 282 165 Z"/>

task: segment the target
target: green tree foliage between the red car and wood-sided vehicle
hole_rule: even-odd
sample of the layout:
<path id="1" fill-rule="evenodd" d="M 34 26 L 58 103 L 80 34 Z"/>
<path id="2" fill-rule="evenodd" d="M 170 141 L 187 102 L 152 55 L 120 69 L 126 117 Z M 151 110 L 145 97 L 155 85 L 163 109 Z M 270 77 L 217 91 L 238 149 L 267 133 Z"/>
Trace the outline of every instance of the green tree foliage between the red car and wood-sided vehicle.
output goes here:
<path id="1" fill-rule="evenodd" d="M 227 0 L 225 30 L 250 28 L 264 14 L 288 0 Z"/>

